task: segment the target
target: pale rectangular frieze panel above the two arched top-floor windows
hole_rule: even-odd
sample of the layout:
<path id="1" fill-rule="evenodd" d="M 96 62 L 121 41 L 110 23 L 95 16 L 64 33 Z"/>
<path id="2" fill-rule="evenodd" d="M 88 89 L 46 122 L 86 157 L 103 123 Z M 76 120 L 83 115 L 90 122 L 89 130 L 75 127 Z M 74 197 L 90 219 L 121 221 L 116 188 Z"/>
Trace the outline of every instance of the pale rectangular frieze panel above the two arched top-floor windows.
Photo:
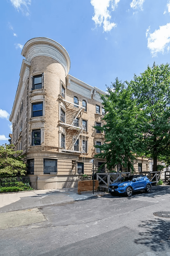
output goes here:
<path id="1" fill-rule="evenodd" d="M 84 96 L 85 98 L 91 99 L 92 90 L 87 89 L 79 84 L 76 84 L 76 83 L 72 82 L 70 79 L 67 84 L 67 89 L 69 89 L 73 92 L 77 92 L 78 94 Z"/>

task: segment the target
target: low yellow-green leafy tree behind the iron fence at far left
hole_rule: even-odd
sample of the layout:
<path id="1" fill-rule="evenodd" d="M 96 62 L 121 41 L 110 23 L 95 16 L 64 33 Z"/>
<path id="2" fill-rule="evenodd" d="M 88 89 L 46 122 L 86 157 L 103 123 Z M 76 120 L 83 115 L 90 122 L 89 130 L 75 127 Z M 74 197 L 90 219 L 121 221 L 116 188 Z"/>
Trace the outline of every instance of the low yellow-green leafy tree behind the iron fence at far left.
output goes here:
<path id="1" fill-rule="evenodd" d="M 0 146 L 0 176 L 16 176 L 26 174 L 25 155 L 22 150 L 13 150 L 13 144 Z"/>

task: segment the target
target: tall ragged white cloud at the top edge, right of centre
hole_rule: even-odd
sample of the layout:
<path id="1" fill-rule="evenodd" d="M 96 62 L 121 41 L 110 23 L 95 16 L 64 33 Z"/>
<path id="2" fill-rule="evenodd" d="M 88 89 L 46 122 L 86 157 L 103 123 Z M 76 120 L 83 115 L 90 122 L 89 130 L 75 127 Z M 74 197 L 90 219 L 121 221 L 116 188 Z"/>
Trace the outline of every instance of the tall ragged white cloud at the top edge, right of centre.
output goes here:
<path id="1" fill-rule="evenodd" d="M 112 11 L 115 10 L 120 0 L 91 0 L 90 3 L 94 7 L 94 16 L 92 20 L 95 25 L 101 26 L 103 24 L 103 31 L 108 32 L 116 27 L 116 23 L 110 22 L 111 15 L 108 10 L 111 7 Z"/>

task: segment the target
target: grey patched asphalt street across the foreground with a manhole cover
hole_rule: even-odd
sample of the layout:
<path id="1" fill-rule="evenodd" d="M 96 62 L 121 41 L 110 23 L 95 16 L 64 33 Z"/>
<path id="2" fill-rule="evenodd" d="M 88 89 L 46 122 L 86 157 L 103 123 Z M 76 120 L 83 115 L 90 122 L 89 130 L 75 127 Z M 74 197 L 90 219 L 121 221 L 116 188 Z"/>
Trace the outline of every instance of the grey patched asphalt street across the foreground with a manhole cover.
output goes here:
<path id="1" fill-rule="evenodd" d="M 0 208 L 4 223 L 18 223 L 1 226 L 0 255 L 170 256 L 170 218 L 153 214 L 170 212 L 170 186 L 60 204 L 54 197 L 22 197 Z"/>

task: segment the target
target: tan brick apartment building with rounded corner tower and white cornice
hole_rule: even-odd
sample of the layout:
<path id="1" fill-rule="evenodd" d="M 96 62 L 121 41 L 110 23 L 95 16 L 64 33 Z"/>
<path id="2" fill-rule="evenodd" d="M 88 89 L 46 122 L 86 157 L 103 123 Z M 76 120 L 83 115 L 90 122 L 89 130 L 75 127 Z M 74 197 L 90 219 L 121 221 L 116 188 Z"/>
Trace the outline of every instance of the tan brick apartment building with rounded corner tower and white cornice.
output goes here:
<path id="1" fill-rule="evenodd" d="M 38 37 L 23 47 L 19 84 L 12 108 L 12 143 L 26 153 L 28 174 L 38 176 L 38 189 L 72 187 L 79 173 L 92 174 L 104 134 L 105 94 L 68 75 L 70 57 L 62 45 Z M 95 159 L 95 170 L 104 162 Z"/>

